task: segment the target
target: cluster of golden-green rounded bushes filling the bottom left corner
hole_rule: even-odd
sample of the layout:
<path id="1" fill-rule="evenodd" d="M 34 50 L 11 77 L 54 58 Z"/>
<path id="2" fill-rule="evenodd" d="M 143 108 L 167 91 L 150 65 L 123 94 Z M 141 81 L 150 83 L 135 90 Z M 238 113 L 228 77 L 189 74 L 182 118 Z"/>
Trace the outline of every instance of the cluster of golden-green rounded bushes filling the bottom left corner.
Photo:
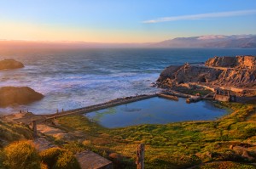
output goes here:
<path id="1" fill-rule="evenodd" d="M 74 147 L 74 146 L 73 146 Z M 0 149 L 0 168 L 3 169 L 79 169 L 79 162 L 70 148 L 50 148 L 41 151 L 32 141 L 13 142 Z"/>

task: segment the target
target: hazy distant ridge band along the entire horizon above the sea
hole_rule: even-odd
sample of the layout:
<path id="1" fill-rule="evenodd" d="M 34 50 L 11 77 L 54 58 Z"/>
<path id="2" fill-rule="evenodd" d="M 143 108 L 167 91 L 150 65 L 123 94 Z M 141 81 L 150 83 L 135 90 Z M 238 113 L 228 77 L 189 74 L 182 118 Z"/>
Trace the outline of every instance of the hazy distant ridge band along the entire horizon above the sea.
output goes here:
<path id="1" fill-rule="evenodd" d="M 0 40 L 0 49 L 10 48 L 256 48 L 256 35 L 177 37 L 162 42 L 144 43 Z"/>

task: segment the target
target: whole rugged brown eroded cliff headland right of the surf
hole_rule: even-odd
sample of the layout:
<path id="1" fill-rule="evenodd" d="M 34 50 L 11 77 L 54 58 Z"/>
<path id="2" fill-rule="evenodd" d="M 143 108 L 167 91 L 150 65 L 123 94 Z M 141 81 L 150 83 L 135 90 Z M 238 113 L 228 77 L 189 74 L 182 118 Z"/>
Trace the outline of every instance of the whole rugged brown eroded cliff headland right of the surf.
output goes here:
<path id="1" fill-rule="evenodd" d="M 159 87 L 175 87 L 195 82 L 214 87 L 249 87 L 256 89 L 256 57 L 215 57 L 206 66 L 169 66 L 157 80 Z"/>

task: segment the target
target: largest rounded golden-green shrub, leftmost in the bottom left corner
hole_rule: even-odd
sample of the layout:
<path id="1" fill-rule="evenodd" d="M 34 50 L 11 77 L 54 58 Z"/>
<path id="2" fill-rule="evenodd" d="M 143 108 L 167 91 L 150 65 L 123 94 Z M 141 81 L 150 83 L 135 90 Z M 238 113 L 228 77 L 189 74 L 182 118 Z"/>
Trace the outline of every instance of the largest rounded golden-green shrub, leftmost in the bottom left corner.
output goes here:
<path id="1" fill-rule="evenodd" d="M 19 141 L 3 149 L 4 166 L 10 169 L 39 169 L 38 151 L 31 141 Z"/>

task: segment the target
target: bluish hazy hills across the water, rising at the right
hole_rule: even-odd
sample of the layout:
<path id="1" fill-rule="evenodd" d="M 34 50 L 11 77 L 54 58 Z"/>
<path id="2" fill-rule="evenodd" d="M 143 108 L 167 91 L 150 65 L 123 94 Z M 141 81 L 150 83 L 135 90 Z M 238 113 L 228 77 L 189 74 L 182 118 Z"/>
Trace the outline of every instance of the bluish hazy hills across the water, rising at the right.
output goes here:
<path id="1" fill-rule="evenodd" d="M 177 37 L 150 46 L 154 48 L 256 48 L 256 35 Z"/>

